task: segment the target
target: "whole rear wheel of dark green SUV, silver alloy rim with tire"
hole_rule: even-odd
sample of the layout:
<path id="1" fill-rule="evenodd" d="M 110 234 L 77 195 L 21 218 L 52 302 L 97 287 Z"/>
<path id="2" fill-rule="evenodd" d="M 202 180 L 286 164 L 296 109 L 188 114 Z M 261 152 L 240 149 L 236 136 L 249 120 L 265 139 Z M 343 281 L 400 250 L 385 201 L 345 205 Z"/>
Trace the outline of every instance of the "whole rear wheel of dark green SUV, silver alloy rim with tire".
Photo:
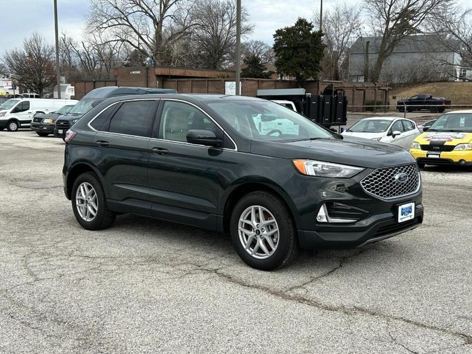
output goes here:
<path id="1" fill-rule="evenodd" d="M 72 187 L 72 209 L 84 229 L 102 230 L 115 221 L 108 210 L 102 185 L 94 173 L 81 174 Z"/>

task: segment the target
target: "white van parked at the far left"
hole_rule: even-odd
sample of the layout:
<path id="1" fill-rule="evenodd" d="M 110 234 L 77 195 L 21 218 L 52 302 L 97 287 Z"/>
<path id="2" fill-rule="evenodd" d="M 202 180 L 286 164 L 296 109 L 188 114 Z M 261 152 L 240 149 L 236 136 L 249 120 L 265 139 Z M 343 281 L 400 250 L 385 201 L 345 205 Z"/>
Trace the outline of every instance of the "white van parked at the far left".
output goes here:
<path id="1" fill-rule="evenodd" d="M 0 106 L 0 130 L 15 132 L 28 128 L 36 113 L 54 112 L 65 105 L 79 102 L 75 99 L 11 98 Z"/>

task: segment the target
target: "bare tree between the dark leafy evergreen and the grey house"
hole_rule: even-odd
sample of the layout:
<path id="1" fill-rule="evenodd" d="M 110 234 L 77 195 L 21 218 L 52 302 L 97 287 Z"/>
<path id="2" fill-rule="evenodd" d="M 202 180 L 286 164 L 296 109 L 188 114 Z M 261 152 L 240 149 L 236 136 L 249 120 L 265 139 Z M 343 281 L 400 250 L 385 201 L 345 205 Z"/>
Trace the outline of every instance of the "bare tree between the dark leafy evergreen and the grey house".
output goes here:
<path id="1" fill-rule="evenodd" d="M 323 42 L 326 45 L 325 57 L 320 75 L 328 80 L 346 78 L 347 50 L 360 36 L 362 27 L 362 8 L 359 5 L 336 4 L 323 16 Z M 315 26 L 319 17 L 313 16 Z"/>

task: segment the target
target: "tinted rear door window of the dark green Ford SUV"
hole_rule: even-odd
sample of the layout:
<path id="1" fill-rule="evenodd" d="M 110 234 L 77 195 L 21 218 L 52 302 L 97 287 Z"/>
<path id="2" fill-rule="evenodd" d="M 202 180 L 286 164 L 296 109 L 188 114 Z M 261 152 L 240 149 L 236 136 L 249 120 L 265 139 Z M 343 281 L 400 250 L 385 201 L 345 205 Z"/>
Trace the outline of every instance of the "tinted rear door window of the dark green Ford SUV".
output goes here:
<path id="1" fill-rule="evenodd" d="M 136 136 L 151 136 L 156 102 L 153 100 L 125 102 L 110 121 L 108 131 Z"/>

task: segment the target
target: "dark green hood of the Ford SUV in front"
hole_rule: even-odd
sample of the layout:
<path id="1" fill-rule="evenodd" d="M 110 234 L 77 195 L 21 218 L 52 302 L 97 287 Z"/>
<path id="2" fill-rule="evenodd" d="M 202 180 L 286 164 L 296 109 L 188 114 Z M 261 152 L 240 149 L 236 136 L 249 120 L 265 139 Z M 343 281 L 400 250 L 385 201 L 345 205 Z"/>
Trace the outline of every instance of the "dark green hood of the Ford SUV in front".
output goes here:
<path id="1" fill-rule="evenodd" d="M 251 153 L 284 159 L 320 160 L 368 168 L 415 162 L 410 153 L 402 147 L 355 137 L 289 143 L 253 140 Z"/>

